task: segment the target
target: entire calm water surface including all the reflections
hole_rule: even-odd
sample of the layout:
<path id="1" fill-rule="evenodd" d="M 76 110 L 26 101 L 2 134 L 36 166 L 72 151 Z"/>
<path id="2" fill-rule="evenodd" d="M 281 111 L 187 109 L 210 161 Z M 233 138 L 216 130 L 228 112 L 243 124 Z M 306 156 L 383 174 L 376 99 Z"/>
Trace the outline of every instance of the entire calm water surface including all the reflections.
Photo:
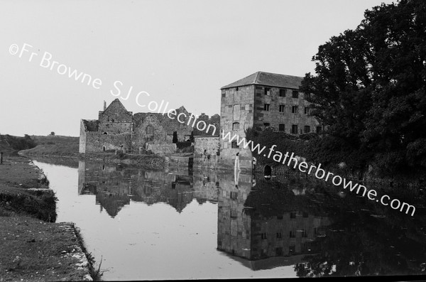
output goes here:
<path id="1" fill-rule="evenodd" d="M 426 269 L 420 204 L 413 218 L 307 179 L 34 163 L 58 197 L 57 222 L 81 229 L 104 280 Z"/>

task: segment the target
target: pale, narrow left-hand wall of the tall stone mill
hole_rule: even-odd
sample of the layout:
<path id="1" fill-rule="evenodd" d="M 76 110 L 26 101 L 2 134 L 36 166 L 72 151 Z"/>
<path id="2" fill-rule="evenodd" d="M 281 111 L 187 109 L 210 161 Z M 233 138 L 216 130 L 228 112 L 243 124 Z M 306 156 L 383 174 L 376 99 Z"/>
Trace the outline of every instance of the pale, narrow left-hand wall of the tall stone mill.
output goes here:
<path id="1" fill-rule="evenodd" d="M 238 90 L 237 90 L 238 88 Z M 244 87 L 234 87 L 222 90 L 220 109 L 220 155 L 219 163 L 222 166 L 234 166 L 236 153 L 239 153 L 240 168 L 251 169 L 253 157 L 249 148 L 232 148 L 228 139 L 222 139 L 222 130 L 227 134 L 231 132 L 231 137 L 238 134 L 240 138 L 245 138 L 244 129 L 253 126 L 253 103 L 254 85 Z"/>

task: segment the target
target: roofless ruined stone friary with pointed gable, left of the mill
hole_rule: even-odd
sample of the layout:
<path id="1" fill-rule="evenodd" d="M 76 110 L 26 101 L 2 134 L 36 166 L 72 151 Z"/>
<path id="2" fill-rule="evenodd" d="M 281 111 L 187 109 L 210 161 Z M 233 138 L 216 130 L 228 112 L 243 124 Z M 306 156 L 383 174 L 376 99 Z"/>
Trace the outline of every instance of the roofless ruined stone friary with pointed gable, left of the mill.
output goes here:
<path id="1" fill-rule="evenodd" d="M 175 112 L 174 116 L 191 116 L 183 106 Z M 202 114 L 198 120 L 219 122 L 219 115 L 209 119 L 209 116 Z M 97 120 L 81 120 L 80 153 L 109 150 L 138 153 L 142 149 L 154 153 L 175 153 L 173 134 L 177 137 L 175 141 L 187 141 L 192 131 L 192 124 L 170 119 L 167 114 L 133 114 L 119 99 L 115 99 L 108 107 L 104 104 L 104 110 L 99 112 Z"/>

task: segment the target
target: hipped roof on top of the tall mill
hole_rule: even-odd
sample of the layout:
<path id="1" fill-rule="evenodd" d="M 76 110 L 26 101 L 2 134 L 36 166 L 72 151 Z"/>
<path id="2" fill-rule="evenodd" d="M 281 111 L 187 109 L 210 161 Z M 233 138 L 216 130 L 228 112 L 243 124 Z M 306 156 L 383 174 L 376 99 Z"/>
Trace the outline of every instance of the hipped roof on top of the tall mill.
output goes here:
<path id="1" fill-rule="evenodd" d="M 300 82 L 302 82 L 303 77 L 295 77 L 293 75 L 280 75 L 278 73 L 271 72 L 255 72 L 253 75 L 248 77 L 241 78 L 236 82 L 226 85 L 221 89 L 239 87 L 245 85 L 266 85 L 272 87 L 285 87 L 298 89 L 300 87 Z"/>

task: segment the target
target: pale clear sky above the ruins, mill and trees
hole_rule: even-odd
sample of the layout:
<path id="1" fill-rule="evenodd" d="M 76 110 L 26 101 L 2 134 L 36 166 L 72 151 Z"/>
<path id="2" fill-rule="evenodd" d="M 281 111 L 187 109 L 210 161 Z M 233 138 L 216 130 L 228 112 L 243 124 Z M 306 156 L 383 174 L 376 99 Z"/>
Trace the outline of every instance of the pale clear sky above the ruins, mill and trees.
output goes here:
<path id="1" fill-rule="evenodd" d="M 2 0 L 0 134 L 79 136 L 116 98 L 133 114 L 220 114 L 221 87 L 314 73 L 318 46 L 382 2 Z"/>

